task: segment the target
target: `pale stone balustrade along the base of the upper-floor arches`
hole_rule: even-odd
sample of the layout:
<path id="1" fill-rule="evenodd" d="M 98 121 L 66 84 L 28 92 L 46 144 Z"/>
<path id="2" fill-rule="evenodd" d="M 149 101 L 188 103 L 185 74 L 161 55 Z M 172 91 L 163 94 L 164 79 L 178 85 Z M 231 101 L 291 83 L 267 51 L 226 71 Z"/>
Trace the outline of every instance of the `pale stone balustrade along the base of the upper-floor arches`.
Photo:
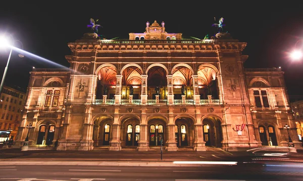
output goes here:
<path id="1" fill-rule="evenodd" d="M 113 105 L 115 100 L 106 100 L 106 103 L 103 103 L 103 100 L 95 100 L 95 105 Z M 159 103 L 156 103 L 156 100 L 147 100 L 147 105 L 167 105 L 167 100 L 159 100 Z M 174 105 L 193 105 L 193 100 L 185 100 L 185 103 L 182 103 L 182 100 L 174 100 Z M 200 100 L 201 105 L 220 105 L 220 100 Z M 132 100 L 132 103 L 129 103 L 129 100 L 121 100 L 121 105 L 141 105 L 141 100 Z"/>

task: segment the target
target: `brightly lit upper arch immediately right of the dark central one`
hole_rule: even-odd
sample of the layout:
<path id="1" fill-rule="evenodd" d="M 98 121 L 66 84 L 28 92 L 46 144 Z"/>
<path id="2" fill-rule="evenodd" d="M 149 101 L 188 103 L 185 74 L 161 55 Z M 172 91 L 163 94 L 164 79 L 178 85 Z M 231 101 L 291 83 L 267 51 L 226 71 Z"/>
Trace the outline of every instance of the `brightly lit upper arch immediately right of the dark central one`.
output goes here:
<path id="1" fill-rule="evenodd" d="M 193 99 L 192 72 L 184 66 L 176 67 L 173 72 L 174 100 Z"/>

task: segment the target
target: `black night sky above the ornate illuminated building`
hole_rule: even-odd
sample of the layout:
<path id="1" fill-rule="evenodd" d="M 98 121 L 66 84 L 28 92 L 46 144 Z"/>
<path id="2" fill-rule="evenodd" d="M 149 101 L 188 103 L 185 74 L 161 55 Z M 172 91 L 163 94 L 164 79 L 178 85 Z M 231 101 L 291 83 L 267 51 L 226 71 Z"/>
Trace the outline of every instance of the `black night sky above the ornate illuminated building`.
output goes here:
<path id="1" fill-rule="evenodd" d="M 98 19 L 99 34 L 108 39 L 128 39 L 128 33 L 143 33 L 145 23 L 165 22 L 168 33 L 203 39 L 211 34 L 214 17 L 224 18 L 226 30 L 240 42 L 247 42 L 245 68 L 282 67 L 291 101 L 303 99 L 303 60 L 293 62 L 287 55 L 296 44 L 303 45 L 303 11 L 299 1 L 283 4 L 267 1 L 5 1 L 0 7 L 0 33 L 10 33 L 23 49 L 48 60 L 69 66 L 68 42 L 88 31 L 89 19 Z M 11 2 L 11 3 L 8 3 Z M 26 3 L 25 3 L 26 2 Z M 32 3 L 27 3 L 32 2 Z M 59 2 L 59 1 L 52 1 Z M 98 3 L 102 2 L 102 3 Z M 233 3 L 230 3 L 233 2 Z M 266 3 L 269 5 L 265 5 Z M 287 3 L 287 4 L 285 4 Z M 16 42 L 18 43 L 18 42 Z M 19 44 L 16 44 L 19 46 Z M 0 51 L 0 74 L 4 72 L 8 50 Z M 39 59 L 19 58 L 13 52 L 6 84 L 26 88 L 32 67 L 56 68 Z M 2 76 L 1 76 L 2 77 Z"/>

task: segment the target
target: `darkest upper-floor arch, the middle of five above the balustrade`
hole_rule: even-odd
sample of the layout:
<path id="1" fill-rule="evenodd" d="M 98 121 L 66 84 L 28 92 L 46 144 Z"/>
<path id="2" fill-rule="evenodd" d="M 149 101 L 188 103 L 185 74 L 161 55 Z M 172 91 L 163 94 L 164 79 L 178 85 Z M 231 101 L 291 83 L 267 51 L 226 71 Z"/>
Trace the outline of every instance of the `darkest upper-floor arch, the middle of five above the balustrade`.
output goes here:
<path id="1" fill-rule="evenodd" d="M 147 99 L 167 99 L 167 73 L 160 66 L 151 67 L 147 72 Z"/>

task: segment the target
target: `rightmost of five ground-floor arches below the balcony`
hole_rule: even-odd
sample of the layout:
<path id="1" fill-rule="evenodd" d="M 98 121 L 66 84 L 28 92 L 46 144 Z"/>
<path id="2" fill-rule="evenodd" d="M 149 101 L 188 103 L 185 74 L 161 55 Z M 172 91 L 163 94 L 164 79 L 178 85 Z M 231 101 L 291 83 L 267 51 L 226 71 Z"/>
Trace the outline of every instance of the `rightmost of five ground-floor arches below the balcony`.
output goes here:
<path id="1" fill-rule="evenodd" d="M 222 147 L 222 126 L 221 121 L 214 116 L 203 120 L 203 138 L 205 146 Z"/>

